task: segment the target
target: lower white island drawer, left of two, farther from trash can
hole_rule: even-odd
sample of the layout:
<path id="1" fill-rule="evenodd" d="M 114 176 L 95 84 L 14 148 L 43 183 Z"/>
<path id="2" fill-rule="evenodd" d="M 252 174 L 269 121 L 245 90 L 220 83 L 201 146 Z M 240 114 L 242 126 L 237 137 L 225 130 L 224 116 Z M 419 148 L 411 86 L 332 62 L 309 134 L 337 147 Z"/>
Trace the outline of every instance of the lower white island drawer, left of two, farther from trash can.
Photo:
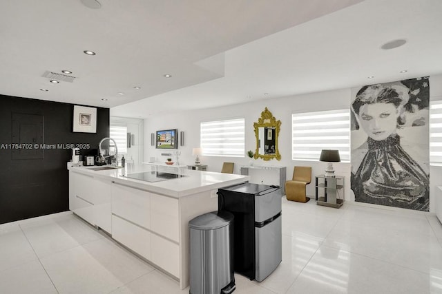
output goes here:
<path id="1" fill-rule="evenodd" d="M 118 216 L 112 216 L 112 238 L 151 260 L 151 233 Z"/>

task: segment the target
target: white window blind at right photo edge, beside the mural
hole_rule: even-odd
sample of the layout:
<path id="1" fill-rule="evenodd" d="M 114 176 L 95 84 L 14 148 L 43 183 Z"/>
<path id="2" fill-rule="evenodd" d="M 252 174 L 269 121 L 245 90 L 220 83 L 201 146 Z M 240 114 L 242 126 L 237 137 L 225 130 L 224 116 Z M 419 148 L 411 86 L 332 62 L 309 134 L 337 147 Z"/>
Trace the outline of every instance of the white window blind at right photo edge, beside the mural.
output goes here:
<path id="1" fill-rule="evenodd" d="M 430 165 L 442 165 L 442 101 L 430 101 Z"/>

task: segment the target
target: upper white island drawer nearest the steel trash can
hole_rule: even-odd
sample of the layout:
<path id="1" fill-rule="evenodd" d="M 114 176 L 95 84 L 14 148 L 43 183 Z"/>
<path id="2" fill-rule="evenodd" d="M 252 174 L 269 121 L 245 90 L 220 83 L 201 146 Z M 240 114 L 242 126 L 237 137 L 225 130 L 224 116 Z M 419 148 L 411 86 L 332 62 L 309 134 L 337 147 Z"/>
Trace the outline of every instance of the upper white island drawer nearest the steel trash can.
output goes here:
<path id="1" fill-rule="evenodd" d="M 179 241 L 178 200 L 157 194 L 151 196 L 151 229 L 164 237 Z"/>

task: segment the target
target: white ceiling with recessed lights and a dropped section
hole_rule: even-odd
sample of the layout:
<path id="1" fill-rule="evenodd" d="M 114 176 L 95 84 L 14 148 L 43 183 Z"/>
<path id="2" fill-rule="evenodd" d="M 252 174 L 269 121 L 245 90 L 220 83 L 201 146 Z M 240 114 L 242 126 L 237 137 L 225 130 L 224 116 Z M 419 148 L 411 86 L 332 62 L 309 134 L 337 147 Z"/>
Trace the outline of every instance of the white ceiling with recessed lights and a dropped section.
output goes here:
<path id="1" fill-rule="evenodd" d="M 442 73 L 441 0 L 99 2 L 0 1 L 0 94 L 147 117 Z"/>

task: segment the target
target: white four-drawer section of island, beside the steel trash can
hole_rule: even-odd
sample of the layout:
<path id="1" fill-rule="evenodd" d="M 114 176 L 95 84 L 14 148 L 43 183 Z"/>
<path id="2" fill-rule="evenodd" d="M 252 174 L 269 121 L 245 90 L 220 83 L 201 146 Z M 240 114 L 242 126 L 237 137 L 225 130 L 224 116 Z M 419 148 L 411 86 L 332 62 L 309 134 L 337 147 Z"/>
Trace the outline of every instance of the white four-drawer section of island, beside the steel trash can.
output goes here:
<path id="1" fill-rule="evenodd" d="M 112 185 L 112 238 L 180 277 L 179 203 L 175 198 Z"/>

